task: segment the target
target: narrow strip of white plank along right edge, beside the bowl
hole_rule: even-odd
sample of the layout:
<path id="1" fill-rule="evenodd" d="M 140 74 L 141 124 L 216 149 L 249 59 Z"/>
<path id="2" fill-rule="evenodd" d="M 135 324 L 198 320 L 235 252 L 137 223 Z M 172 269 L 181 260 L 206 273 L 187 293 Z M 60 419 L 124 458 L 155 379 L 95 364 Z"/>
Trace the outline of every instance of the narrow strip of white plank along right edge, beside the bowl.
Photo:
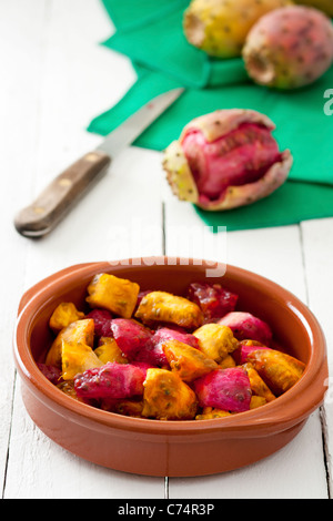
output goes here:
<path id="1" fill-rule="evenodd" d="M 304 266 L 309 293 L 309 306 L 319 319 L 326 337 L 330 388 L 322 409 L 323 436 L 330 494 L 333 497 L 333 323 L 332 306 L 329 304 L 333 293 L 333 219 L 309 221 L 302 223 Z"/>

